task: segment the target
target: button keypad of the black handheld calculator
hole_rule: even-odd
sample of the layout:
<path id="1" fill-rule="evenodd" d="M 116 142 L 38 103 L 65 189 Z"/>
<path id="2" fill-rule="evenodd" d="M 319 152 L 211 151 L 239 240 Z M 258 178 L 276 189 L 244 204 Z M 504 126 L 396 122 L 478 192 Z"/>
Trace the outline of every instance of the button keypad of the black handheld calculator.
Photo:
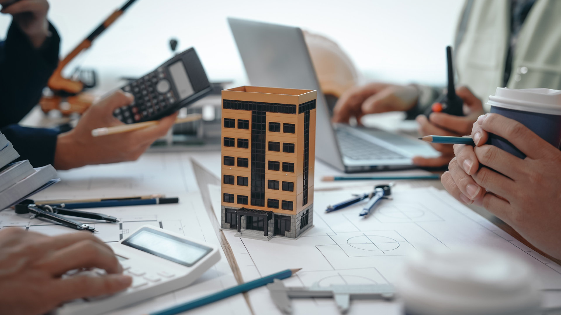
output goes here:
<path id="1" fill-rule="evenodd" d="M 150 120 L 177 100 L 163 67 L 124 86 L 122 90 L 131 93 L 135 100 L 114 110 L 113 115 L 127 124 Z"/>

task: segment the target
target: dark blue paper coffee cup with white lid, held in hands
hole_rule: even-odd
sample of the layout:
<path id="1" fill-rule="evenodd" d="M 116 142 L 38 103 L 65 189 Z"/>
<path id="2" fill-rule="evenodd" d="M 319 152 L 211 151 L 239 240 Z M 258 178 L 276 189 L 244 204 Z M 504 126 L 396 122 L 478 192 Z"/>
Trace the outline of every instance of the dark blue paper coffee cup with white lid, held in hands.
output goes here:
<path id="1" fill-rule="evenodd" d="M 508 89 L 497 87 L 489 96 L 491 113 L 514 119 L 536 135 L 561 149 L 561 91 L 544 88 Z M 518 158 L 526 155 L 502 137 L 489 134 L 489 143 Z"/>

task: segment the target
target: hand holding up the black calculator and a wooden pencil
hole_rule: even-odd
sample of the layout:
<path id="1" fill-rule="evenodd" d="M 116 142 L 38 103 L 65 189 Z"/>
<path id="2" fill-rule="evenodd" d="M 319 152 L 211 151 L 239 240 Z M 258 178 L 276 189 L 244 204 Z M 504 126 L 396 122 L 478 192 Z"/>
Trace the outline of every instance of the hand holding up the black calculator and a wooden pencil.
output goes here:
<path id="1" fill-rule="evenodd" d="M 91 105 L 74 129 L 58 136 L 54 167 L 71 169 L 90 164 L 134 161 L 155 140 L 165 136 L 173 126 L 177 113 L 160 119 L 159 124 L 155 126 L 144 129 L 102 137 L 91 136 L 93 129 L 123 124 L 113 117 L 113 110 L 130 104 L 133 99 L 131 94 L 118 90 Z"/>

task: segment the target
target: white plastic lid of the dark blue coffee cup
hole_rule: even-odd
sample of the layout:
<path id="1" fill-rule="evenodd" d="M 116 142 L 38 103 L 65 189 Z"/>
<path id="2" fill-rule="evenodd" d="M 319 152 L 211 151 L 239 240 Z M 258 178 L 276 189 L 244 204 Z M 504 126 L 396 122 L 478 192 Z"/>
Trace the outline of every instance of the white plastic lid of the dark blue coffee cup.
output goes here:
<path id="1" fill-rule="evenodd" d="M 561 115 L 561 91 L 543 87 L 522 90 L 497 87 L 487 104 L 523 112 Z"/>

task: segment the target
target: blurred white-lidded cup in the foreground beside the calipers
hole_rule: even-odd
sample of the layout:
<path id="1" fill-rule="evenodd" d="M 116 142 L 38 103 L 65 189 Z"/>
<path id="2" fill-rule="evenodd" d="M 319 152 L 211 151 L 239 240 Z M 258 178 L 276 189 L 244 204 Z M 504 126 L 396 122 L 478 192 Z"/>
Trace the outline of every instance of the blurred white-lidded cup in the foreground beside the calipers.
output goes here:
<path id="1" fill-rule="evenodd" d="M 406 315 L 535 315 L 541 304 L 530 265 L 482 247 L 421 248 L 396 288 Z"/>

